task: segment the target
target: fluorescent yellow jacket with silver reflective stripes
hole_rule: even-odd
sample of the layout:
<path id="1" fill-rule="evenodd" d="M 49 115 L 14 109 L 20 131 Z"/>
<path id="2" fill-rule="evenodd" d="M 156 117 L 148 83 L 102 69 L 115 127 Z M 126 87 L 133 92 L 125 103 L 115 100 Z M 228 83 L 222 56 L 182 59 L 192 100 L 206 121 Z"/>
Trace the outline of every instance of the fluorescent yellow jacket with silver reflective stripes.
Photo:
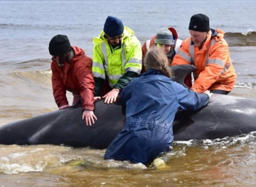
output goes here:
<path id="1" fill-rule="evenodd" d="M 140 74 L 142 70 L 142 46 L 134 31 L 124 26 L 124 37 L 121 48 L 112 48 L 102 31 L 93 39 L 92 75 L 105 80 L 105 73 L 111 87 L 127 71 Z"/>

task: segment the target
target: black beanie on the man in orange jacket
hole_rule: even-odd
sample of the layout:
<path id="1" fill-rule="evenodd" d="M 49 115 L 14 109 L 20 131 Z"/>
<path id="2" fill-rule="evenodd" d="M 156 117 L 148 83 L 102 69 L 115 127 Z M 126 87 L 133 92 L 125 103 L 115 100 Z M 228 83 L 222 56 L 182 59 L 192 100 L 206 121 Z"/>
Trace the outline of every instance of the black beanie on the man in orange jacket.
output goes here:
<path id="1" fill-rule="evenodd" d="M 208 32 L 210 31 L 210 21 L 204 14 L 196 14 L 191 17 L 188 30 Z"/>

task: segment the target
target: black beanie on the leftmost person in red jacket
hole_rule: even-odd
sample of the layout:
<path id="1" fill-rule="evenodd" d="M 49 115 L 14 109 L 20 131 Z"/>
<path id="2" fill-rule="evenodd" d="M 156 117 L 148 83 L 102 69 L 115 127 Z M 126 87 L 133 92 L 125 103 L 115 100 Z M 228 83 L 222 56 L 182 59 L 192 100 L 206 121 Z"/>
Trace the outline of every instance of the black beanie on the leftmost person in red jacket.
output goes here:
<path id="1" fill-rule="evenodd" d="M 57 56 L 63 55 L 70 52 L 71 46 L 68 36 L 65 35 L 56 35 L 54 36 L 49 43 L 49 52 L 50 55 Z"/>

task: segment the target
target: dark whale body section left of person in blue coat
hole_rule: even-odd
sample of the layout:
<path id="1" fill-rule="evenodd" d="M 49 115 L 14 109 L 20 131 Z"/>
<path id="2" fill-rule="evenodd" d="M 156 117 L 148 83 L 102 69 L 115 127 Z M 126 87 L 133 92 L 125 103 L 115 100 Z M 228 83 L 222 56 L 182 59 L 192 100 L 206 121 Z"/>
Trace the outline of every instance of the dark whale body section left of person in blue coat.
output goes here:
<path id="1" fill-rule="evenodd" d="M 121 105 L 95 102 L 97 120 L 87 126 L 82 105 L 0 126 L 0 144 L 64 144 L 105 149 L 124 125 Z"/>

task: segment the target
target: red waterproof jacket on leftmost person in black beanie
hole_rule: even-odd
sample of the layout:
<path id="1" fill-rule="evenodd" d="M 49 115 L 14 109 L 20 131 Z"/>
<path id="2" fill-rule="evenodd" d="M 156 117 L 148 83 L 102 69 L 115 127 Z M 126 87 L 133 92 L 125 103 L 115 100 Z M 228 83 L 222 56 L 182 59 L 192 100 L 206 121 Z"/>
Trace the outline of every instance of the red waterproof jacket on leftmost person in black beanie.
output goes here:
<path id="1" fill-rule="evenodd" d="M 70 63 L 60 68 L 53 60 L 52 70 L 53 96 L 58 107 L 68 105 L 66 90 L 82 97 L 82 109 L 94 110 L 94 80 L 92 77 L 92 58 L 85 55 L 85 50 L 72 46 L 75 55 Z"/>

